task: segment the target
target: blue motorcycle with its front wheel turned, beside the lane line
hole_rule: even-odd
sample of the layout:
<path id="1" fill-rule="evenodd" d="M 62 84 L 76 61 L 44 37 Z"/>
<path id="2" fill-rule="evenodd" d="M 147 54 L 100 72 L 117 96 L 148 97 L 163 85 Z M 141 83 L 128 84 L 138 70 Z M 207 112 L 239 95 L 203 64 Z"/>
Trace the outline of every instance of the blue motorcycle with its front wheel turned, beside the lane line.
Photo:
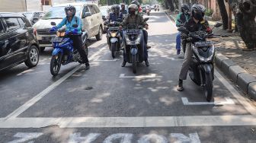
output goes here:
<path id="1" fill-rule="evenodd" d="M 51 25 L 55 26 L 56 23 L 52 22 Z M 72 27 L 78 27 L 77 24 L 72 25 Z M 51 42 L 53 43 L 52 59 L 50 62 L 50 72 L 53 76 L 58 75 L 61 65 L 67 65 L 70 62 L 82 63 L 82 58 L 77 49 L 74 49 L 72 45 L 72 40 L 69 35 L 76 35 L 77 33 L 66 33 L 65 29 L 50 31 L 50 33 L 56 33 Z M 85 54 L 88 55 L 88 46 L 86 45 L 88 33 L 87 31 L 82 34 L 82 47 L 85 50 Z"/>

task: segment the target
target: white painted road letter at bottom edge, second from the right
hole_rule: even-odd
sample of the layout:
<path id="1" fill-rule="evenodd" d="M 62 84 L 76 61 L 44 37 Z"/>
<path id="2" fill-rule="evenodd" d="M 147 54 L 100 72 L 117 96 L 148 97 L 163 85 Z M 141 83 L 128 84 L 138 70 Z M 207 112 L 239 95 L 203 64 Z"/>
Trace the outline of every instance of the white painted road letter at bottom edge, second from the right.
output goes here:
<path id="1" fill-rule="evenodd" d="M 168 143 L 168 140 L 165 138 L 165 136 L 157 134 L 143 135 L 142 138 L 139 138 L 138 143 L 149 143 L 152 140 L 155 140 L 155 143 Z"/>

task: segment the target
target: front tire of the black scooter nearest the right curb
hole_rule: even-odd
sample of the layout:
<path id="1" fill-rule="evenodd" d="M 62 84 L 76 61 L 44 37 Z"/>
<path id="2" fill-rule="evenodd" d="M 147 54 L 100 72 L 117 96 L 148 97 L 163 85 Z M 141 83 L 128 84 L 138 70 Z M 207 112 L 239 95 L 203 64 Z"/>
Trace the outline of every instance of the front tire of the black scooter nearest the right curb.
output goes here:
<path id="1" fill-rule="evenodd" d="M 213 98 L 213 77 L 212 74 L 205 74 L 205 85 L 203 86 L 203 93 L 206 100 L 210 102 Z"/>

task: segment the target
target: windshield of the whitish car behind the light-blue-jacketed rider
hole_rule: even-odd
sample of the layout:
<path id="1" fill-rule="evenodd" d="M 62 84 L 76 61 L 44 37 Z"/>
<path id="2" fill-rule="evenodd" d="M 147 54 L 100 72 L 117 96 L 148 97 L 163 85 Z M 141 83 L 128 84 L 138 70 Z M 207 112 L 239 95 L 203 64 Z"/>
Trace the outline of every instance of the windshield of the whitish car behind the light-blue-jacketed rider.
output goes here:
<path id="1" fill-rule="evenodd" d="M 62 19 L 63 17 L 66 17 L 66 13 L 64 11 L 65 6 L 59 6 L 59 7 L 53 7 L 50 8 L 49 11 L 46 12 L 46 14 L 43 16 L 42 19 Z M 81 13 L 81 6 L 75 6 L 76 12 L 75 15 L 80 17 Z"/>

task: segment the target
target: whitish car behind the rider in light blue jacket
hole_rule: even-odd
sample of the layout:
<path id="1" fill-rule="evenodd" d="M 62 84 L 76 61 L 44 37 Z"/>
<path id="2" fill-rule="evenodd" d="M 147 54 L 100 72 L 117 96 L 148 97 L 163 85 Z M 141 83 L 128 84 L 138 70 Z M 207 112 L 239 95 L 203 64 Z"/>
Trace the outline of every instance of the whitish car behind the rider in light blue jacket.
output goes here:
<path id="1" fill-rule="evenodd" d="M 66 17 L 64 8 L 67 5 L 74 5 L 76 8 L 76 16 L 82 18 L 83 30 L 88 31 L 87 34 L 82 34 L 82 40 L 87 38 L 96 37 L 97 40 L 102 39 L 103 33 L 103 20 L 101 11 L 98 5 L 86 2 L 75 2 L 62 5 L 56 5 L 50 8 L 49 11 L 43 16 L 40 21 L 34 24 L 34 28 L 37 30 L 37 40 L 40 43 L 40 50 L 43 51 L 46 46 L 52 46 L 50 40 L 55 37 L 55 34 L 49 33 L 51 22 L 59 24 L 63 17 Z"/>

